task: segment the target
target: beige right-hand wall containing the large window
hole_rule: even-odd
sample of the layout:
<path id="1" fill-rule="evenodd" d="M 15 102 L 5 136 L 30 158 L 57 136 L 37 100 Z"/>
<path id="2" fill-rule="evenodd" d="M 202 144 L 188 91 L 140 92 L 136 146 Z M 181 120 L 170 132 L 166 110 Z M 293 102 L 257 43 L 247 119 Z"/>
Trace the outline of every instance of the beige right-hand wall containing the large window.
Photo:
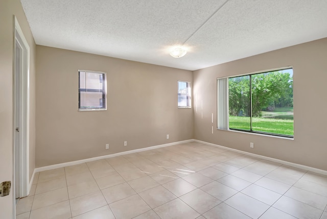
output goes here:
<path id="1" fill-rule="evenodd" d="M 326 57 L 327 38 L 324 38 L 195 71 L 193 91 L 198 100 L 198 112 L 194 111 L 195 138 L 327 170 Z M 217 78 L 289 65 L 294 72 L 294 140 L 216 129 Z M 253 149 L 250 142 L 254 143 Z"/>

